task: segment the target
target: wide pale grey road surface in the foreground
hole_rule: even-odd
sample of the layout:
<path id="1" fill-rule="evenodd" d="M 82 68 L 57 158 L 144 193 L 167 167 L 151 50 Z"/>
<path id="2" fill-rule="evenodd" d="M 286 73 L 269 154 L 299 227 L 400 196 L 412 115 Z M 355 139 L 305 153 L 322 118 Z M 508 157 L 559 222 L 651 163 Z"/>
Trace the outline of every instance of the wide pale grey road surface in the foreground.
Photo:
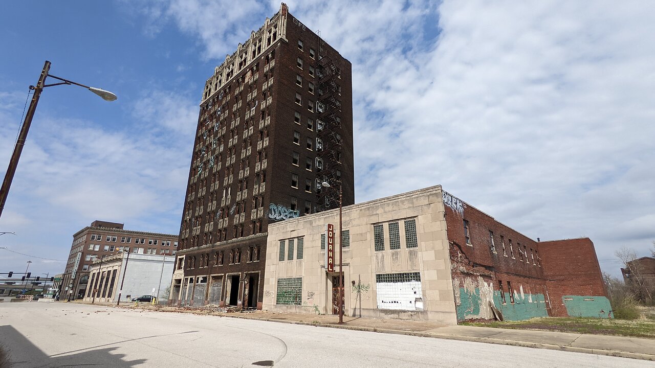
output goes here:
<path id="1" fill-rule="evenodd" d="M 0 303 L 0 344 L 23 367 L 655 367 L 519 346 L 86 304 Z"/>

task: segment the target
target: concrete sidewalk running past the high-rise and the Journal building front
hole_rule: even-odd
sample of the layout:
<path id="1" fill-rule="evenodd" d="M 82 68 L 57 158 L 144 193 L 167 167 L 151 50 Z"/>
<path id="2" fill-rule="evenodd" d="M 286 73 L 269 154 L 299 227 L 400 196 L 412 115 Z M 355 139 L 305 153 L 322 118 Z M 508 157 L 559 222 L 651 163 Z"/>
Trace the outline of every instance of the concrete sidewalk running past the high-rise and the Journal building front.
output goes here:
<path id="1" fill-rule="evenodd" d="M 262 312 L 259 310 L 252 312 L 244 311 L 227 313 L 223 311 L 223 308 L 215 308 L 211 306 L 193 308 L 157 306 L 141 303 L 138 306 L 135 306 L 133 303 L 126 303 L 121 305 L 121 307 L 153 311 L 157 310 L 161 312 L 210 314 L 215 316 L 297 323 L 360 331 L 437 337 L 440 339 L 488 342 L 491 344 L 527 346 L 529 348 L 564 350 L 568 352 L 581 352 L 655 361 L 655 339 L 639 339 L 636 337 L 588 335 L 522 329 L 500 329 L 462 325 L 453 326 L 443 325 L 436 322 L 382 320 L 378 318 L 356 318 L 348 316 L 344 316 L 344 323 L 339 324 L 339 317 L 335 315 L 274 313 Z"/>

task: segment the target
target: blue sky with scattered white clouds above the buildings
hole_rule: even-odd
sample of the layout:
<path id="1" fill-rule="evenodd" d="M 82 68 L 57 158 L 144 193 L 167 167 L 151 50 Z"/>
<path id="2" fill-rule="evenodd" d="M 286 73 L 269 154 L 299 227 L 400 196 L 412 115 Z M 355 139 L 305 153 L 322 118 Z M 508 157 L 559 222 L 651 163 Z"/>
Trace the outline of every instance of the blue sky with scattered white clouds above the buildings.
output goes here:
<path id="1" fill-rule="evenodd" d="M 441 184 L 527 236 L 649 255 L 655 2 L 290 0 L 352 63 L 356 202 Z M 12 1 L 0 12 L 0 272 L 60 273 L 96 219 L 178 234 L 198 103 L 276 1 Z M 52 81 L 52 80 L 51 80 Z M 24 255 L 18 253 L 24 253 Z M 29 255 L 29 256 L 26 256 Z"/>

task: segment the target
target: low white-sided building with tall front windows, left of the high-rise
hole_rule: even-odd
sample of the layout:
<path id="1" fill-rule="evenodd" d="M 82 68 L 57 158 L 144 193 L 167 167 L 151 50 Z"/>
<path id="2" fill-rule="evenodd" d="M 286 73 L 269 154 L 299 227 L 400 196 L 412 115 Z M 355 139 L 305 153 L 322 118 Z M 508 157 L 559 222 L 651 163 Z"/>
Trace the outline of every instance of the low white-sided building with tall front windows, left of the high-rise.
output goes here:
<path id="1" fill-rule="evenodd" d="M 123 252 L 93 261 L 84 301 L 116 303 L 141 295 L 159 295 L 168 299 L 175 257 L 167 255 Z M 124 275 L 124 276 L 123 276 Z M 122 292 L 121 292 L 122 284 Z M 159 288 L 159 289 L 158 289 Z"/>

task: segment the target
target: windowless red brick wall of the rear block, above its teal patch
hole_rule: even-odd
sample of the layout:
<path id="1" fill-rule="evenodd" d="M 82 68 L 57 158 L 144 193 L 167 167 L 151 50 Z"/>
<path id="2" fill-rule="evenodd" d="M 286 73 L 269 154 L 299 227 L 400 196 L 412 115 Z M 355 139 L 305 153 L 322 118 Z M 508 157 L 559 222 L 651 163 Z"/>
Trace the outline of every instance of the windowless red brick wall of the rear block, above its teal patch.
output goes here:
<path id="1" fill-rule="evenodd" d="M 555 316 L 567 316 L 563 295 L 607 297 L 601 267 L 589 238 L 552 240 L 539 245 Z"/>

